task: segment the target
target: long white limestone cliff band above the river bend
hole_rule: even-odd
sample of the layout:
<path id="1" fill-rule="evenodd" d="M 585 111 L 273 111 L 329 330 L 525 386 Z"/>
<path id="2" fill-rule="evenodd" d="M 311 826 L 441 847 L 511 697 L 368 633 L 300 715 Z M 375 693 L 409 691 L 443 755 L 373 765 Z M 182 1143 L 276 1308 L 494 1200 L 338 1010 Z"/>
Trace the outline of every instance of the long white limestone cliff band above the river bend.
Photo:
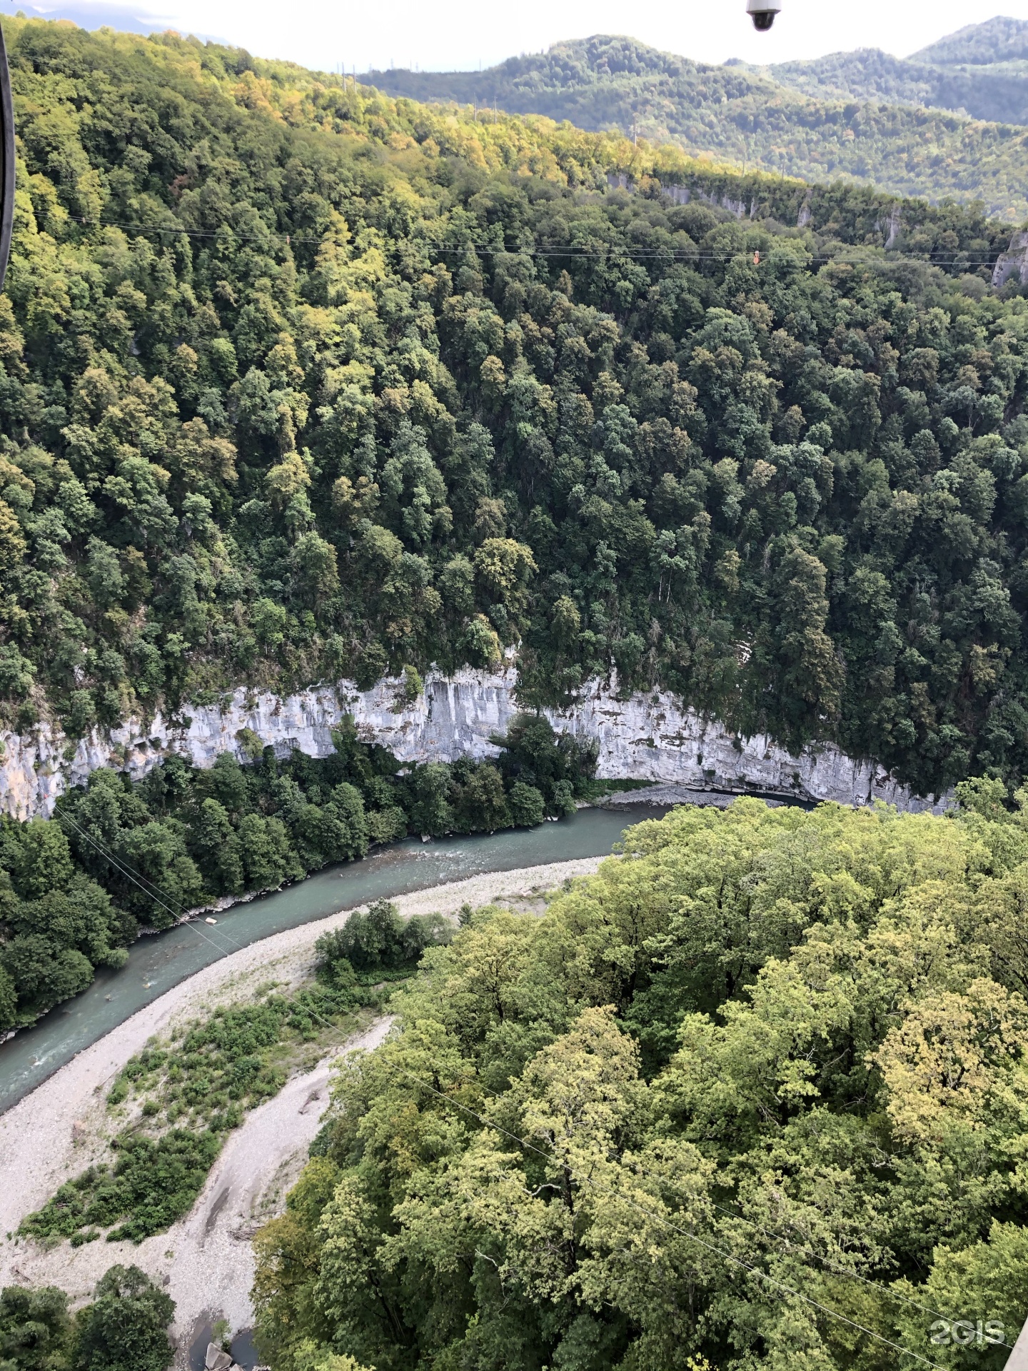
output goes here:
<path id="1" fill-rule="evenodd" d="M 16 818 L 48 816 L 70 786 L 82 784 L 97 766 L 127 771 L 134 779 L 177 751 L 197 766 L 210 766 L 223 751 L 243 757 L 240 729 L 252 729 L 284 755 L 297 747 L 313 757 L 332 751 L 332 728 L 351 713 L 362 732 L 392 749 L 404 762 L 492 757 L 491 733 L 504 732 L 517 713 L 515 672 L 461 670 L 429 675 L 425 694 L 396 712 L 397 683 L 380 681 L 359 691 L 352 681 L 302 691 L 286 699 L 237 690 L 225 707 L 195 706 L 175 724 L 158 716 L 144 731 L 138 723 L 110 738 L 93 732 L 78 743 L 47 725 L 34 733 L 0 733 L 0 809 Z M 899 809 L 939 812 L 943 803 L 913 795 L 881 768 L 857 762 L 835 747 L 799 757 L 763 736 L 733 739 L 721 724 L 683 710 L 663 692 L 617 699 L 614 687 L 592 681 L 566 714 L 550 713 L 556 729 L 599 740 L 599 776 L 677 781 L 715 788 L 772 791 L 810 799 L 866 805 L 884 799 Z"/>

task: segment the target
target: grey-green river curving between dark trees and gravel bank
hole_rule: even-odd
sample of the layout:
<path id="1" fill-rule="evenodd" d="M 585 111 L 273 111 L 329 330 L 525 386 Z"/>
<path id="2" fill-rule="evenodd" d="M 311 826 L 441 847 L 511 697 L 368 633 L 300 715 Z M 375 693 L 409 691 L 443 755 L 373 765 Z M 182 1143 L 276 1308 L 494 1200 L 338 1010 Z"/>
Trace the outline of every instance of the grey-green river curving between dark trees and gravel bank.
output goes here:
<path id="1" fill-rule="evenodd" d="M 32 1028 L 23 1028 L 0 1045 L 0 1113 L 137 1009 L 219 957 L 260 938 L 369 899 L 391 899 L 484 872 L 602 857 L 629 824 L 662 813 L 663 809 L 641 806 L 580 809 L 569 818 L 537 828 L 440 838 L 429 843 L 407 839 L 363 861 L 328 866 L 285 890 L 233 905 L 217 916 L 217 925 L 199 920 L 140 938 L 121 971 L 100 969 L 81 995 L 58 1005 Z"/>

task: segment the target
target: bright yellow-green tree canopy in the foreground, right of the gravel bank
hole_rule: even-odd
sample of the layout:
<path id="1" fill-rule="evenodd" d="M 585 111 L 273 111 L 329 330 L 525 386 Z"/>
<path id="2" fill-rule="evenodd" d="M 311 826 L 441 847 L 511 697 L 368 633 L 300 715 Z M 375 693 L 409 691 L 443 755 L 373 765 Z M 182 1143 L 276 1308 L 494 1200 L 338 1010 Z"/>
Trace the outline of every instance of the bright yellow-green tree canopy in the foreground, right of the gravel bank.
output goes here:
<path id="1" fill-rule="evenodd" d="M 961 798 L 683 808 L 541 919 L 474 912 L 255 1239 L 276 1371 L 1002 1367 L 1028 813 Z"/>

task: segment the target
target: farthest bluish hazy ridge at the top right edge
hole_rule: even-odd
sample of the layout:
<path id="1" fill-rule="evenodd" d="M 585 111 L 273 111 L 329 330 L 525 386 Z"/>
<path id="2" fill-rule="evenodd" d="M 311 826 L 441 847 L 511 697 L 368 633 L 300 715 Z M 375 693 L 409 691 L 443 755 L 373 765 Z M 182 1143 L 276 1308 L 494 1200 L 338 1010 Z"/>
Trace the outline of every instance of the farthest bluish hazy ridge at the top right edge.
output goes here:
<path id="1" fill-rule="evenodd" d="M 906 59 L 880 48 L 858 48 L 752 70 L 814 99 L 839 93 L 861 101 L 936 106 L 975 119 L 1028 123 L 1024 19 L 969 25 Z"/>

